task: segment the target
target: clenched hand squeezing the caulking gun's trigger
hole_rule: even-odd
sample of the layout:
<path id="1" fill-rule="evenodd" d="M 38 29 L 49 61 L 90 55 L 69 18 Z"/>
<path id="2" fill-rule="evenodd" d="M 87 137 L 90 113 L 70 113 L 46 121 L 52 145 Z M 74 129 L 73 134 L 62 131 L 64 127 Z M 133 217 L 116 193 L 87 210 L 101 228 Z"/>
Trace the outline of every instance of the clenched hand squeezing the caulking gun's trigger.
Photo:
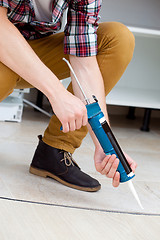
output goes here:
<path id="1" fill-rule="evenodd" d="M 62 124 L 64 133 L 85 126 L 88 122 L 87 109 L 84 103 L 65 88 L 50 100 L 53 111 Z"/>

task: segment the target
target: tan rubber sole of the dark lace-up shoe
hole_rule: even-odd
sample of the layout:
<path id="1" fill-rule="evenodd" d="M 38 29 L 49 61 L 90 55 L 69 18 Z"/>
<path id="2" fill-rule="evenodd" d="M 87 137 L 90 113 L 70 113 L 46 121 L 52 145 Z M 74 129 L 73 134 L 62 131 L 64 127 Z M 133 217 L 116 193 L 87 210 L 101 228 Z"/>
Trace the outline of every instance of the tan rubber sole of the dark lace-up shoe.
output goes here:
<path id="1" fill-rule="evenodd" d="M 34 168 L 32 166 L 30 166 L 29 172 L 34 174 L 34 175 L 40 176 L 40 177 L 44 177 L 44 178 L 50 177 L 50 178 L 53 178 L 54 180 L 62 183 L 63 185 L 65 185 L 67 187 L 74 188 L 74 189 L 81 190 L 81 191 L 85 191 L 85 192 L 97 192 L 101 188 L 101 185 L 97 186 L 97 187 L 94 187 L 94 188 L 80 187 L 80 186 L 68 183 L 68 182 L 62 180 L 61 178 L 57 177 L 56 175 L 54 175 L 54 174 L 52 174 L 52 173 L 50 173 L 48 171 L 40 170 L 40 169 Z"/>

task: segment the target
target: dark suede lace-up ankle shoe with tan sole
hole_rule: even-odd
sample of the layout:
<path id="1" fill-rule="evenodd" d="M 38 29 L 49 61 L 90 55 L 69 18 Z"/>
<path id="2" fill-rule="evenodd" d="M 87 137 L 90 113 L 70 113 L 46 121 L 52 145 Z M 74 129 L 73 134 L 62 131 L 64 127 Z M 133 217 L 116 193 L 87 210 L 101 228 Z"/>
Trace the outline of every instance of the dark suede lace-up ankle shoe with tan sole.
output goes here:
<path id="1" fill-rule="evenodd" d="M 72 154 L 49 146 L 39 137 L 30 173 L 41 177 L 51 177 L 58 182 L 78 190 L 95 192 L 101 188 L 100 183 L 82 172 L 73 160 Z"/>

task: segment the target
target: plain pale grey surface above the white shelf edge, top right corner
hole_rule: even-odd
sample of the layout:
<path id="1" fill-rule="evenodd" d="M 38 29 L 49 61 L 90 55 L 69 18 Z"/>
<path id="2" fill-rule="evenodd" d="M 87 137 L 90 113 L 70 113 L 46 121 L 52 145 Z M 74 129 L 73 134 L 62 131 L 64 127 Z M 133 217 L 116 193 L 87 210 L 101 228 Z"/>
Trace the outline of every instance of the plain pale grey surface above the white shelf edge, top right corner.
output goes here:
<path id="1" fill-rule="evenodd" d="M 160 0 L 103 0 L 101 21 L 160 29 Z"/>

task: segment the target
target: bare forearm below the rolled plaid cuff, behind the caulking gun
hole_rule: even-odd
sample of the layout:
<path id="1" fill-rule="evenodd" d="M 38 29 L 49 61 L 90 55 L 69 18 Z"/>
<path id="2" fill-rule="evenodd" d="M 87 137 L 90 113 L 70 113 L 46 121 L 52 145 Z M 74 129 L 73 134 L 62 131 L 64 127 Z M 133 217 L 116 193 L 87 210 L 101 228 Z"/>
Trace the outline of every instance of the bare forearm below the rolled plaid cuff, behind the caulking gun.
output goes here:
<path id="1" fill-rule="evenodd" d="M 82 87 L 84 88 L 86 94 L 88 95 L 87 97 L 90 97 L 92 94 L 97 97 L 99 105 L 102 109 L 102 112 L 104 113 L 105 118 L 109 122 L 107 108 L 106 108 L 103 78 L 97 63 L 96 56 L 94 57 L 70 56 L 70 62 Z M 80 92 L 80 89 L 76 84 L 74 77 L 72 75 L 71 77 L 72 77 L 74 94 L 79 98 L 81 98 L 82 100 L 82 94 Z M 93 139 L 95 147 L 99 148 L 100 144 L 97 138 L 95 137 L 93 131 L 91 130 L 90 125 L 88 124 L 87 127 Z"/>

